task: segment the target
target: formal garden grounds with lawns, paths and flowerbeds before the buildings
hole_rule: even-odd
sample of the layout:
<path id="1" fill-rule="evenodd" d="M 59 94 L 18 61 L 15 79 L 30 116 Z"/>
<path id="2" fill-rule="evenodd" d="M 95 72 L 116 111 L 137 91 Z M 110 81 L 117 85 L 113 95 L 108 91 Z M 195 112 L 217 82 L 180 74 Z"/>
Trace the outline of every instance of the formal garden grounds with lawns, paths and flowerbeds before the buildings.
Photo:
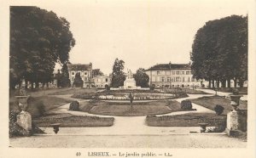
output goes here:
<path id="1" fill-rule="evenodd" d="M 117 91 L 123 96 L 132 90 Z M 14 93 L 14 94 L 12 94 Z M 18 114 L 17 99 L 11 92 L 10 115 Z M 137 93 L 137 94 L 136 94 Z M 71 147 L 73 141 L 80 140 L 74 147 L 245 147 L 247 133 L 228 136 L 224 133 L 227 113 L 232 110 L 230 93 L 216 92 L 210 89 L 179 89 L 166 92 L 154 89 L 148 91 L 148 96 L 172 96 L 172 99 L 144 99 L 145 92 L 134 91 L 133 95 L 142 99 L 99 98 L 101 95 L 113 94 L 109 90 L 87 88 L 55 88 L 27 92 L 30 95 L 27 111 L 32 115 L 32 133 L 10 122 L 10 146 L 12 147 Z M 186 94 L 184 94 L 186 93 Z M 91 96 L 96 96 L 88 99 Z M 158 96 L 158 95 L 157 95 Z M 246 95 L 245 95 L 246 96 Z M 128 97 L 129 98 L 129 97 Z M 247 98 L 241 98 L 239 109 L 247 110 Z M 182 102 L 185 100 L 186 105 Z M 191 106 L 189 102 L 191 101 Z M 73 105 L 71 105 L 73 104 Z M 214 110 L 216 104 L 224 107 L 219 112 Z M 217 114 L 217 112 L 219 112 Z M 53 125 L 59 123 L 59 131 L 54 132 Z M 201 133 L 201 123 L 207 123 L 206 131 Z M 30 136 L 30 137 L 24 137 Z M 96 136 L 96 137 L 92 137 Z M 163 140 L 165 136 L 165 140 Z M 61 138 L 56 140 L 56 138 Z M 63 144 L 67 138 L 68 144 Z M 83 139 L 82 138 L 82 139 Z M 105 140 L 102 140 L 105 138 Z M 127 141 L 114 144 L 113 139 Z M 136 138 L 137 141 L 128 141 Z M 147 139 L 147 144 L 143 138 Z M 204 141 L 204 138 L 212 141 Z M 168 144 L 167 140 L 183 140 L 189 144 Z M 186 140 L 184 140 L 186 139 Z M 228 144 L 220 144 L 227 140 Z M 48 144 L 46 141 L 55 140 L 62 144 Z M 87 141 L 88 140 L 88 141 Z M 93 141 L 93 143 L 90 143 Z M 32 141 L 33 143 L 27 143 Z M 163 144 L 159 144 L 160 141 Z M 196 142 L 195 144 L 191 144 Z M 26 143 L 25 143 L 26 142 Z M 45 142 L 45 143 L 44 143 Z M 86 143 L 85 143 L 86 142 Z M 156 145 L 156 144 L 159 145 Z M 35 146 L 33 146 L 35 145 Z"/>

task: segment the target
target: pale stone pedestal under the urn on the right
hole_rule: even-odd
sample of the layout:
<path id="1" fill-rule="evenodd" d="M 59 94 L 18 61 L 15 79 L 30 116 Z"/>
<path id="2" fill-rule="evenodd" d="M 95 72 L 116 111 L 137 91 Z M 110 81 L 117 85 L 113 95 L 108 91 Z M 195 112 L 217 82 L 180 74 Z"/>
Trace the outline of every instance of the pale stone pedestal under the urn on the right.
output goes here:
<path id="1" fill-rule="evenodd" d="M 227 128 L 226 133 L 228 135 L 234 136 L 239 133 L 239 114 L 238 111 L 230 111 L 227 115 Z"/>

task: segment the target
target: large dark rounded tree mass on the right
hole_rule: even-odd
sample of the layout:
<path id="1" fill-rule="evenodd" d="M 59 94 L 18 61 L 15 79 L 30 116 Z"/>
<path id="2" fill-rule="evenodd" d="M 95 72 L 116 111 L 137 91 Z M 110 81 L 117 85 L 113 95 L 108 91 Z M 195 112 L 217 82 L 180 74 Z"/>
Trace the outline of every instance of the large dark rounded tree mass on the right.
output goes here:
<path id="1" fill-rule="evenodd" d="M 195 35 L 190 53 L 196 79 L 241 82 L 247 80 L 247 17 L 232 15 L 208 21 Z M 210 84 L 211 85 L 211 84 Z M 217 85 L 218 86 L 218 85 Z"/>

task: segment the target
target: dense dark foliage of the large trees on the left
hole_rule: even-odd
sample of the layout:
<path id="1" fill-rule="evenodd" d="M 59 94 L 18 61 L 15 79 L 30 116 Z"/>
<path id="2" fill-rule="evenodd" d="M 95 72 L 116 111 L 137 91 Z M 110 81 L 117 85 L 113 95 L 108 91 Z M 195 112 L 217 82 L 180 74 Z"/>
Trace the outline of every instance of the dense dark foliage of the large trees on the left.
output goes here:
<path id="1" fill-rule="evenodd" d="M 10 7 L 10 87 L 52 80 L 55 63 L 65 64 L 75 41 L 69 22 L 37 7 Z"/>

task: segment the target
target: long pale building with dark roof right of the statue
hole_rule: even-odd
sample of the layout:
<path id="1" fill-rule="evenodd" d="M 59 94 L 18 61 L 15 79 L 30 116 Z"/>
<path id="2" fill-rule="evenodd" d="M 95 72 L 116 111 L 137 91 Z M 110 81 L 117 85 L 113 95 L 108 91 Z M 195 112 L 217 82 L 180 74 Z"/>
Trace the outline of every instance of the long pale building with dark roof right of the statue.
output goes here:
<path id="1" fill-rule="evenodd" d="M 148 84 L 154 87 L 208 87 L 207 82 L 196 80 L 189 64 L 158 64 L 146 71 Z"/>

